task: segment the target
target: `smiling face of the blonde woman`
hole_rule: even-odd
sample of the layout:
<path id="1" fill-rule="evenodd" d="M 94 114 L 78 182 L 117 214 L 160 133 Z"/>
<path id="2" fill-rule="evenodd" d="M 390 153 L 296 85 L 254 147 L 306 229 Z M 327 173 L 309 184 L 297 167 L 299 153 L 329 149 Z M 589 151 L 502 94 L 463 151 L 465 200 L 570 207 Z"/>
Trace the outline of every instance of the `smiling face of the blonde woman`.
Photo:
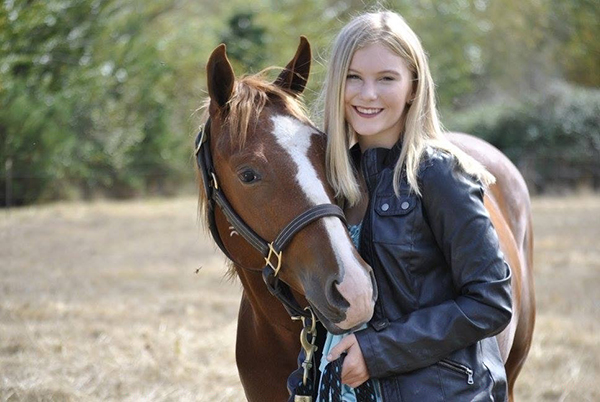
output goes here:
<path id="1" fill-rule="evenodd" d="M 375 43 L 354 53 L 346 77 L 345 116 L 363 151 L 391 148 L 398 141 L 412 89 L 406 62 L 385 45 Z"/>

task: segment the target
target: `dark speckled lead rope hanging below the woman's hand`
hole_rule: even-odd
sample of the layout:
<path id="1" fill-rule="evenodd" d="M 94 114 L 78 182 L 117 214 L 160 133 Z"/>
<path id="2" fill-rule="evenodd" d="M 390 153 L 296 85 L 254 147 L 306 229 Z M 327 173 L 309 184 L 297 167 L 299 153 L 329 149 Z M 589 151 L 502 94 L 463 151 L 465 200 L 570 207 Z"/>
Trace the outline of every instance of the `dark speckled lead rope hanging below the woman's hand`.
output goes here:
<path id="1" fill-rule="evenodd" d="M 346 353 L 325 366 L 317 402 L 342 402 L 342 366 Z M 375 402 L 377 396 L 373 381 L 367 380 L 354 388 L 356 402 Z"/>

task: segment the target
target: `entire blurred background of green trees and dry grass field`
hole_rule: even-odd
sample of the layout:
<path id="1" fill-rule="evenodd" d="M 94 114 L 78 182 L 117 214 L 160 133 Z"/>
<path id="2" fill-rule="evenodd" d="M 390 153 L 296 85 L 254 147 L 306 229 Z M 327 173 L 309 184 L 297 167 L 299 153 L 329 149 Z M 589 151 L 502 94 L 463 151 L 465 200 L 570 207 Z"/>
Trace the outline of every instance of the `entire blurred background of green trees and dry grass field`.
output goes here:
<path id="1" fill-rule="evenodd" d="M 204 66 L 283 66 L 317 98 L 353 16 L 402 14 L 442 121 L 518 166 L 538 302 L 518 401 L 600 400 L 597 0 L 2 0 L 0 401 L 242 401 L 241 285 L 199 230 Z M 319 121 L 318 110 L 314 119 Z"/>

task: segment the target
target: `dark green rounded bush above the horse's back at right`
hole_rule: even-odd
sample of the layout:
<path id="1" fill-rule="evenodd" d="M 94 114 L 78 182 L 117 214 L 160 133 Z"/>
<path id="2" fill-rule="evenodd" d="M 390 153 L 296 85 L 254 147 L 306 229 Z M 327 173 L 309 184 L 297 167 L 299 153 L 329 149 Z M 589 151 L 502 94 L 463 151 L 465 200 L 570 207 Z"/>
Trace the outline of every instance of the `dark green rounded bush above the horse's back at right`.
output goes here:
<path id="1" fill-rule="evenodd" d="M 502 150 L 538 190 L 600 186 L 600 90 L 552 85 L 511 105 L 486 105 L 449 119 Z"/>

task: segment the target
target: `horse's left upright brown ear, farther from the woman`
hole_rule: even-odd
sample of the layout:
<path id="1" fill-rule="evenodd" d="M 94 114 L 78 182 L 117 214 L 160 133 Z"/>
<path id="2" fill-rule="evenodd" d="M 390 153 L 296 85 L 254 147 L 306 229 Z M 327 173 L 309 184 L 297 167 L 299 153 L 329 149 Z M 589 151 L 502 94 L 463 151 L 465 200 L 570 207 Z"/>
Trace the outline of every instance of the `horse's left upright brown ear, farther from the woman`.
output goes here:
<path id="1" fill-rule="evenodd" d="M 225 44 L 220 44 L 211 53 L 206 64 L 206 79 L 211 104 L 214 103 L 219 109 L 224 108 L 231 98 L 235 82 L 233 68 L 225 54 Z"/>

